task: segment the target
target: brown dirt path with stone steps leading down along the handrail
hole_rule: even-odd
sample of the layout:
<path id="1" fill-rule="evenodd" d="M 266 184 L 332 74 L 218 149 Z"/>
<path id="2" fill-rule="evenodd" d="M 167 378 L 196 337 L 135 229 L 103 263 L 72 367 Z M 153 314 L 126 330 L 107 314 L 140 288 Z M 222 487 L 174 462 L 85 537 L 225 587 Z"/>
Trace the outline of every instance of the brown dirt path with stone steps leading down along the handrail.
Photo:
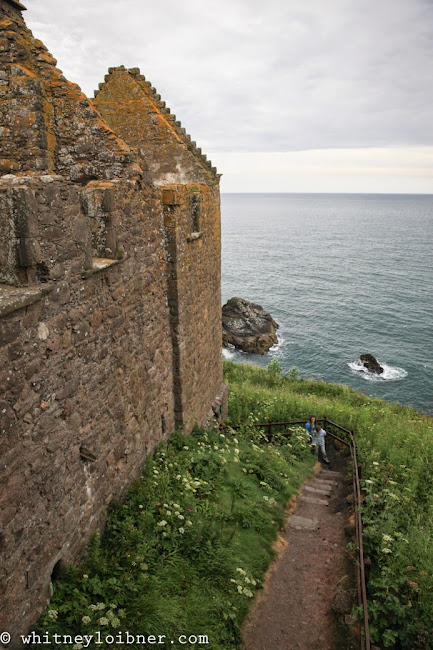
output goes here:
<path id="1" fill-rule="evenodd" d="M 331 467 L 343 469 L 329 451 Z M 344 530 L 350 493 L 345 473 L 327 467 L 304 485 L 244 627 L 245 650 L 356 648 L 344 622 L 356 599 Z"/>

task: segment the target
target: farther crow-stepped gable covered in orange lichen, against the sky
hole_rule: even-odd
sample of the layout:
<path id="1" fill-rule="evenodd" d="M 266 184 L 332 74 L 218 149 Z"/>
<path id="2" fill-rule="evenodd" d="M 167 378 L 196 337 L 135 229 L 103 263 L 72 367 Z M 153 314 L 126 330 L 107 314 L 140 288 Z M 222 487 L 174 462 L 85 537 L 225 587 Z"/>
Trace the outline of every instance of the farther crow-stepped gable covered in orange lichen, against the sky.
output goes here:
<path id="1" fill-rule="evenodd" d="M 216 168 L 139 68 L 109 68 L 94 105 L 125 142 L 141 150 L 154 183 L 218 183 Z"/>

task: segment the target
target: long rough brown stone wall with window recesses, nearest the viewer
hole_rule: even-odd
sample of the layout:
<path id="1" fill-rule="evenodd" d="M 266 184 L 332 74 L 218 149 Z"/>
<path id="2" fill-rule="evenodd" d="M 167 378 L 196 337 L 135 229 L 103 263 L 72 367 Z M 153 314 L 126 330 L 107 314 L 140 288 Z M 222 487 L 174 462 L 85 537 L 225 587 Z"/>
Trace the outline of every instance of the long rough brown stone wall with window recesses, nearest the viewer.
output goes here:
<path id="1" fill-rule="evenodd" d="M 79 558 L 174 429 L 157 193 L 114 184 L 123 257 L 89 265 L 89 188 L 49 180 L 0 180 L 3 200 L 33 197 L 50 278 L 0 288 L 0 621 L 10 631 L 34 622 L 56 563 Z"/>

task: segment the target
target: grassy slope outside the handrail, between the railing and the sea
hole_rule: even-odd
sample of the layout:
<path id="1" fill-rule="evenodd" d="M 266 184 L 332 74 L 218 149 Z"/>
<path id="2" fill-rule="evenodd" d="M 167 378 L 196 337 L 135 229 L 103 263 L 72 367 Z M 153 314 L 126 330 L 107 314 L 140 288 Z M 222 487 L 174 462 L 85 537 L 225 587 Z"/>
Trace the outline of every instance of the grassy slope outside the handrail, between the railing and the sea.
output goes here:
<path id="1" fill-rule="evenodd" d="M 225 363 L 232 423 L 326 416 L 355 431 L 373 640 L 433 648 L 433 421 L 347 386 Z"/>

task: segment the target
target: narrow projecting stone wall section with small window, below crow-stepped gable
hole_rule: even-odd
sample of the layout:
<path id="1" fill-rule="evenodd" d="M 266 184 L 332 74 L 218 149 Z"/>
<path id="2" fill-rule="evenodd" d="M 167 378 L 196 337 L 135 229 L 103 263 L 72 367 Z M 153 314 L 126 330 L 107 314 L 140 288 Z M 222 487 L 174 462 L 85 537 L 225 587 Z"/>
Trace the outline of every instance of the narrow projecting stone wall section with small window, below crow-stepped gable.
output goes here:
<path id="1" fill-rule="evenodd" d="M 164 186 L 162 203 L 176 419 L 189 430 L 205 420 L 216 397 L 215 386 L 222 383 L 219 190 L 199 184 Z"/>

